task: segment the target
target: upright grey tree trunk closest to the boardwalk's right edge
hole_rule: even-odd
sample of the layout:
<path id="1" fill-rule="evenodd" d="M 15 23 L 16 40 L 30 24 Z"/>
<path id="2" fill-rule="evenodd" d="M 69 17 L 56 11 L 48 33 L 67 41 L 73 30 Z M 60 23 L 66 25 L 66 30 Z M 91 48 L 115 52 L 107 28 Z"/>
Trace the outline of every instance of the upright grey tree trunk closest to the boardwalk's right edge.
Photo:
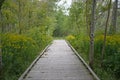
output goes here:
<path id="1" fill-rule="evenodd" d="M 92 0 L 91 25 L 90 25 L 90 53 L 89 53 L 89 65 L 91 68 L 93 68 L 93 64 L 94 64 L 95 9 L 96 9 L 96 0 Z"/>

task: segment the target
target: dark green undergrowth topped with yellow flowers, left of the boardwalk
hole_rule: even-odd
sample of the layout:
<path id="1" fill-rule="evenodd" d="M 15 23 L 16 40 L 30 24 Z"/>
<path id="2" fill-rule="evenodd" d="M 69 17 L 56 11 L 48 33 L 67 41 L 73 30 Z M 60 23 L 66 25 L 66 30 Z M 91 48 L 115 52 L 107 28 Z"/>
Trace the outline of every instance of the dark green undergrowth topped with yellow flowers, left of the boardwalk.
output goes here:
<path id="1" fill-rule="evenodd" d="M 16 80 L 38 55 L 38 45 L 29 37 L 18 34 L 2 35 L 2 80 Z"/>

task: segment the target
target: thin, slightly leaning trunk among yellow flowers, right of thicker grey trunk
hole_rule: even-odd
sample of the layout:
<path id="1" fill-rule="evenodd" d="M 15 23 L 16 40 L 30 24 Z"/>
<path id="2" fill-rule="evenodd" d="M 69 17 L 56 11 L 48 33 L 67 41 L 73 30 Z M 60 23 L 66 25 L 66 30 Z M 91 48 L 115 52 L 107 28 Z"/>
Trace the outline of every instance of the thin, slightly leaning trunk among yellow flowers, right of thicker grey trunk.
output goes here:
<path id="1" fill-rule="evenodd" d="M 107 36 L 107 29 L 108 29 L 108 22 L 109 22 L 109 18 L 110 18 L 110 7 L 111 7 L 111 0 L 109 2 L 109 10 L 108 10 L 108 16 L 107 16 L 107 20 L 106 20 L 106 25 L 105 25 L 105 32 L 104 32 L 104 42 L 103 42 L 103 47 L 102 47 L 102 63 L 101 65 L 103 65 L 103 59 L 104 59 L 104 53 L 105 53 L 105 46 L 106 46 L 106 36 Z"/>

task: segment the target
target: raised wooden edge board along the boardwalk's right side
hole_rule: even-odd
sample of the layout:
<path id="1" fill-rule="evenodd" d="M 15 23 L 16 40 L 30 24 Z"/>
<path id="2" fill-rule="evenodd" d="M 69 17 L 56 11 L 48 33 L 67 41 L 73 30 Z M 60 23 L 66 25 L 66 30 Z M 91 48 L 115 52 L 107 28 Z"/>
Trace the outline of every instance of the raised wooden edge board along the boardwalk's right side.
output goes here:
<path id="1" fill-rule="evenodd" d="M 92 76 L 95 78 L 95 80 L 100 80 L 99 77 L 95 74 L 95 72 L 88 66 L 88 64 L 84 61 L 84 59 L 78 54 L 78 52 L 72 47 L 72 45 L 66 40 L 68 43 L 68 46 L 74 51 L 74 53 L 77 55 L 77 57 L 82 61 L 82 63 L 85 65 L 85 67 L 90 71 Z"/>

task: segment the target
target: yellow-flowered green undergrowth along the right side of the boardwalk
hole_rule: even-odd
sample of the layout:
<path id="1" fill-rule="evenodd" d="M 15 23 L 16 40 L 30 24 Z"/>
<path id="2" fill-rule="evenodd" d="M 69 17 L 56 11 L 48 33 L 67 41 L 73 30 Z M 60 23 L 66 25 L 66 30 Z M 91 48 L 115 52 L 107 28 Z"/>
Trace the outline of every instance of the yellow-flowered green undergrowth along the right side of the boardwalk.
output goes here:
<path id="1" fill-rule="evenodd" d="M 88 62 L 89 38 L 75 36 L 75 39 L 67 39 L 80 55 Z M 103 45 L 103 35 L 95 37 L 95 64 L 94 70 L 102 80 L 119 80 L 120 74 L 120 36 L 107 36 L 105 57 L 101 67 L 101 50 Z M 112 75 L 112 76 L 111 76 Z"/>

